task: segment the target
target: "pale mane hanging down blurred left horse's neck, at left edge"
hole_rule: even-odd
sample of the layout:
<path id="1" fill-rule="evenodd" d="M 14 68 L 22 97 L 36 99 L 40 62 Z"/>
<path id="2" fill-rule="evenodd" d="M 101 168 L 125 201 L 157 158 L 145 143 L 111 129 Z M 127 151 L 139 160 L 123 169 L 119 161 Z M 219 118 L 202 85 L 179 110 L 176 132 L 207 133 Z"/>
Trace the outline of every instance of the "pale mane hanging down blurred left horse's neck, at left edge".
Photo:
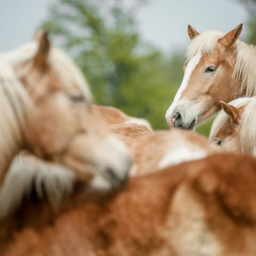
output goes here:
<path id="1" fill-rule="evenodd" d="M 33 113 L 33 103 L 6 62 L 0 63 L 0 164 L 1 168 L 21 141 L 20 129 Z M 6 166 L 7 167 L 7 166 Z M 0 172 L 0 176 L 1 176 Z"/>

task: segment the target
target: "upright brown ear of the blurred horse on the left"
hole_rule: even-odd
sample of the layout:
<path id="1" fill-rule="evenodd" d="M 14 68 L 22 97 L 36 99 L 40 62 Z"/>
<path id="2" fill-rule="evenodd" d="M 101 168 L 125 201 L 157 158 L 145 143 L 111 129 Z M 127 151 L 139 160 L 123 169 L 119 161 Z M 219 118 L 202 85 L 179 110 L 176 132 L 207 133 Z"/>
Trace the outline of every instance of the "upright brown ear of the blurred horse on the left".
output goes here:
<path id="1" fill-rule="evenodd" d="M 36 39 L 36 41 L 38 41 L 39 44 L 37 53 L 34 58 L 34 65 L 37 68 L 44 69 L 51 48 L 51 44 L 48 38 L 48 32 L 39 30 L 35 34 L 34 39 Z"/>

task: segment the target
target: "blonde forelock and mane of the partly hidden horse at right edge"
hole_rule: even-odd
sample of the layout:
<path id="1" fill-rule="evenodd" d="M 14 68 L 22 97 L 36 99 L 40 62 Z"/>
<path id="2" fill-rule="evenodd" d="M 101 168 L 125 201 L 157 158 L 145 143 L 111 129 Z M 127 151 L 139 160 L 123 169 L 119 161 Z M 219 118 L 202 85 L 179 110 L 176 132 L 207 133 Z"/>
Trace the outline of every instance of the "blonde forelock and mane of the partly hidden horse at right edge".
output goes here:
<path id="1" fill-rule="evenodd" d="M 242 153 L 252 155 L 254 154 L 254 149 L 256 146 L 256 97 L 238 98 L 229 102 L 229 104 L 236 108 L 246 106 L 238 127 L 238 141 L 239 148 L 241 149 Z M 216 134 L 219 132 L 221 127 L 227 122 L 227 120 L 228 115 L 224 110 L 221 110 L 219 115 L 215 118 L 212 124 L 209 137 L 211 140 L 216 136 Z"/>

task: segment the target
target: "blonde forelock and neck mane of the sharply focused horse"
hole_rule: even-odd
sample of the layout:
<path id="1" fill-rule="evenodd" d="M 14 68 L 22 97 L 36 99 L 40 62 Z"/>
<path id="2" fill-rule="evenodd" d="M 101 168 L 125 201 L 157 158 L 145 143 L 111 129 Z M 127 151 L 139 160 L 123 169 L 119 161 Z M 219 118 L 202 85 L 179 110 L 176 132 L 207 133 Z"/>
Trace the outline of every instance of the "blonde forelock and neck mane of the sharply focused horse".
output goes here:
<path id="1" fill-rule="evenodd" d="M 218 40 L 225 34 L 220 31 L 210 30 L 196 36 L 188 46 L 187 58 L 191 59 L 197 52 L 212 54 L 217 48 Z M 241 91 L 246 92 L 247 97 L 256 94 L 256 47 L 248 45 L 240 40 L 236 43 L 236 64 L 232 75 L 235 79 L 241 79 Z"/>

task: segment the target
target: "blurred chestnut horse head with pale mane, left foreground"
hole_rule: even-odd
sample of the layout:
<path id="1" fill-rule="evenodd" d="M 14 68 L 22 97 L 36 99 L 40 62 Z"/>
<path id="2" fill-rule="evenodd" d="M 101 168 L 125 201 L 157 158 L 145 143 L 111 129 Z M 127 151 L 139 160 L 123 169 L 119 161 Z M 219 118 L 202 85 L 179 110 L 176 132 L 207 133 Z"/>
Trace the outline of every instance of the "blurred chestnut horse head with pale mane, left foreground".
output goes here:
<path id="1" fill-rule="evenodd" d="M 47 34 L 0 57 L 1 148 L 8 149 L 0 159 L 1 179 L 13 156 L 28 149 L 65 165 L 80 179 L 100 174 L 122 183 L 131 165 L 129 152 L 92 116 L 82 75 L 63 52 L 50 46 Z"/>

